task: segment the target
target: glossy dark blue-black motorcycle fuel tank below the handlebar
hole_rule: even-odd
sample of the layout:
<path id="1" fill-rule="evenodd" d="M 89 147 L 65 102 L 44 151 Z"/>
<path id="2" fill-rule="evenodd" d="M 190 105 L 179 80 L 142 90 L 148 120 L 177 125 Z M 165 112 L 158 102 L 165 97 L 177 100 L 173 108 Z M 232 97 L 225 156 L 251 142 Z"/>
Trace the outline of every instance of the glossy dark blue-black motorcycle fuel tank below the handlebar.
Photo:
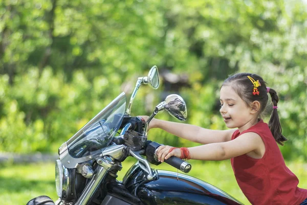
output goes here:
<path id="1" fill-rule="evenodd" d="M 156 170 L 157 179 L 148 181 L 146 172 L 135 164 L 126 173 L 125 187 L 140 198 L 143 204 L 203 204 L 242 205 L 224 191 L 185 174 Z"/>

